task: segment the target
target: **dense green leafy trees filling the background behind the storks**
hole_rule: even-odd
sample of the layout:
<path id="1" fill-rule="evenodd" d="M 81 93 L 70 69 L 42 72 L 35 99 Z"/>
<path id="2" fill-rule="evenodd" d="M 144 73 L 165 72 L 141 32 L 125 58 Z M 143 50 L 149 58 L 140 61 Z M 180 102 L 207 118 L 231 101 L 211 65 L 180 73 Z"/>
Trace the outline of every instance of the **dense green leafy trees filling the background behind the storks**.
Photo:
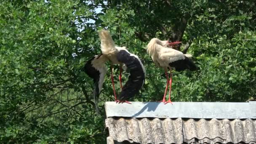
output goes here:
<path id="1" fill-rule="evenodd" d="M 173 71 L 173 101 L 256 97 L 253 0 L 2 0 L 0 9 L 0 143 L 105 143 L 104 101 L 114 99 L 110 75 L 99 116 L 93 82 L 81 70 L 100 53 L 102 28 L 146 67 L 134 101 L 163 96 L 163 69 L 146 53 L 153 37 L 182 41 L 178 49 L 200 68 Z"/>

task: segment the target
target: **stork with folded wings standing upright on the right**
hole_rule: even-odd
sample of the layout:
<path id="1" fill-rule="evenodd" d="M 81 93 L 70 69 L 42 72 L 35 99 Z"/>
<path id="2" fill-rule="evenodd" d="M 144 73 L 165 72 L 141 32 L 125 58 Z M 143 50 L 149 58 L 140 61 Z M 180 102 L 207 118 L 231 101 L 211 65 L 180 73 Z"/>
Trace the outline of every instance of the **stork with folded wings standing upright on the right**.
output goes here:
<path id="1" fill-rule="evenodd" d="M 173 48 L 167 48 L 168 46 L 171 46 L 168 40 L 162 41 L 157 38 L 153 38 L 152 40 L 150 40 L 149 44 L 147 45 L 147 53 L 149 54 L 149 56 L 151 56 L 152 60 L 155 62 L 155 64 L 158 67 L 162 67 L 165 70 L 165 76 L 167 79 L 165 93 L 163 96 L 163 102 L 165 104 L 172 103 L 171 102 L 172 77 L 170 75 L 170 80 L 169 80 L 167 70 L 169 69 L 171 72 L 172 69 L 176 71 L 183 71 L 185 69 L 194 71 L 197 69 L 193 61 L 189 59 L 191 55 L 184 54 Z M 169 100 L 165 101 L 166 91 L 169 84 L 170 84 Z"/>

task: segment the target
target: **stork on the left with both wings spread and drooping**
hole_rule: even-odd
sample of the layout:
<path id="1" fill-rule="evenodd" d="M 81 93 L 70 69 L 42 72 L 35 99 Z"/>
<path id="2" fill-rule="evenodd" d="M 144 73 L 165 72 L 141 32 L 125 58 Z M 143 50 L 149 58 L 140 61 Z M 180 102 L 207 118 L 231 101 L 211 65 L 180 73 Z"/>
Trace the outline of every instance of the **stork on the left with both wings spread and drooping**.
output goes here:
<path id="1" fill-rule="evenodd" d="M 107 30 L 99 31 L 99 37 L 101 39 L 102 54 L 99 54 L 97 56 L 93 56 L 93 58 L 89 59 L 85 63 L 85 67 L 83 68 L 84 72 L 89 77 L 93 78 L 93 82 L 94 82 L 94 101 L 95 101 L 95 106 L 96 106 L 96 112 L 98 114 L 100 114 L 100 111 L 99 111 L 97 103 L 98 103 L 98 99 L 99 99 L 99 94 L 102 90 L 102 86 L 103 86 L 103 83 L 104 83 L 104 77 L 107 73 L 107 68 L 105 66 L 106 61 L 111 61 L 111 65 L 112 64 L 120 64 L 119 80 L 120 80 L 120 85 L 121 85 L 121 88 L 122 88 L 121 67 L 124 70 L 126 70 L 127 67 L 124 63 L 121 63 L 117 60 L 117 55 L 122 50 L 129 53 L 127 51 L 126 47 L 117 47 L 117 46 L 115 46 L 115 43 L 112 40 L 112 37 L 111 37 L 111 35 L 109 34 L 109 32 Z M 145 77 L 146 70 L 145 70 L 143 64 L 141 63 L 141 60 L 139 59 L 139 57 L 132 54 L 132 53 L 129 53 L 129 55 L 134 57 L 135 59 L 137 59 L 137 61 L 139 61 L 139 65 L 141 66 L 141 69 L 142 69 L 141 71 L 143 71 L 142 73 L 144 74 L 143 77 Z M 123 56 L 121 56 L 121 57 L 123 57 Z M 127 58 L 126 57 L 123 57 L 123 58 L 124 58 L 123 59 L 124 62 L 127 62 L 127 61 L 125 61 L 125 59 L 127 59 Z M 133 79 L 131 79 L 131 80 L 133 80 Z M 114 90 L 114 94 L 115 94 L 115 86 L 114 86 L 113 75 L 112 75 L 112 67 L 111 67 L 111 80 L 112 80 L 113 90 Z M 129 83 L 131 82 L 131 80 L 129 81 Z M 142 85 L 143 84 L 144 84 L 144 79 L 143 79 Z M 142 85 L 137 84 L 135 86 L 141 86 L 142 87 Z M 126 90 L 129 91 L 129 88 L 127 88 L 127 85 L 126 85 Z M 122 94 L 124 95 L 124 94 L 126 94 L 126 92 L 123 92 Z M 134 91 L 133 91 L 132 94 L 135 94 Z M 130 93 L 130 96 L 132 96 L 132 94 Z M 117 101 L 116 94 L 115 94 L 115 100 Z"/>

